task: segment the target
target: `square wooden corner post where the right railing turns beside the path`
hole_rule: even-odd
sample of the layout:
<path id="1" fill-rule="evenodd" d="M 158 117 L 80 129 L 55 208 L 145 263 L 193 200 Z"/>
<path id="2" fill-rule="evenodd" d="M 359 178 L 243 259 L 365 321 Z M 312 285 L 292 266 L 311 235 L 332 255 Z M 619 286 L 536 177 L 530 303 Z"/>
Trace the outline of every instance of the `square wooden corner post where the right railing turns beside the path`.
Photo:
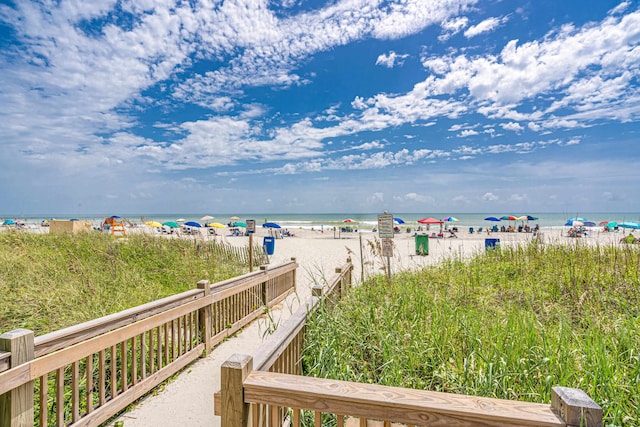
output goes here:
<path id="1" fill-rule="evenodd" d="M 253 357 L 234 354 L 220 367 L 220 425 L 248 427 L 249 404 L 244 403 L 242 383 L 253 371 Z"/>

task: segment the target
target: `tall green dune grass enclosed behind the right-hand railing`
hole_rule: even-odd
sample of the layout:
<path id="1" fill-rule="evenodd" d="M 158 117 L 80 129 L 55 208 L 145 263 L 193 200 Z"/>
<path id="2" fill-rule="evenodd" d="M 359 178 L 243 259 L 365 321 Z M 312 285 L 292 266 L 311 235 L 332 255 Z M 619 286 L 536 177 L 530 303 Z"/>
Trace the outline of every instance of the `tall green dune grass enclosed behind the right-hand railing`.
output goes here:
<path id="1" fill-rule="evenodd" d="M 504 248 L 389 284 L 307 327 L 305 374 L 549 403 L 580 388 L 606 425 L 640 425 L 640 251 Z"/>

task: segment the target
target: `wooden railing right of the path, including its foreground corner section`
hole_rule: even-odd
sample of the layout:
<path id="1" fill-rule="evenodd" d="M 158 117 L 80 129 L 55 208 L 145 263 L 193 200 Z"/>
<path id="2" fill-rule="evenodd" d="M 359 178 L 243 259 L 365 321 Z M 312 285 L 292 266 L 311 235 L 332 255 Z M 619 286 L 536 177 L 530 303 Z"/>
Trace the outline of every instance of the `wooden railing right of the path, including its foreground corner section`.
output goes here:
<path id="1" fill-rule="evenodd" d="M 348 289 L 352 269 L 348 263 L 327 287 L 314 288 L 255 356 L 234 355 L 222 365 L 214 396 L 222 427 L 321 427 L 327 417 L 338 427 L 602 426 L 602 409 L 578 389 L 553 387 L 549 405 L 302 376 L 306 319 Z"/>

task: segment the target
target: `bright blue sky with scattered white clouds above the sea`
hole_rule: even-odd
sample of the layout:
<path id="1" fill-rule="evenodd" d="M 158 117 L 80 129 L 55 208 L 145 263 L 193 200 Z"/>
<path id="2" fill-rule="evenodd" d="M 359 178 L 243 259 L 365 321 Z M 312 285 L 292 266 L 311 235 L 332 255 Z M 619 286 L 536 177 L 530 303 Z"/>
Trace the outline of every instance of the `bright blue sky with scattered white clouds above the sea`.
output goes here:
<path id="1" fill-rule="evenodd" d="M 640 4 L 0 0 L 0 214 L 640 212 Z"/>

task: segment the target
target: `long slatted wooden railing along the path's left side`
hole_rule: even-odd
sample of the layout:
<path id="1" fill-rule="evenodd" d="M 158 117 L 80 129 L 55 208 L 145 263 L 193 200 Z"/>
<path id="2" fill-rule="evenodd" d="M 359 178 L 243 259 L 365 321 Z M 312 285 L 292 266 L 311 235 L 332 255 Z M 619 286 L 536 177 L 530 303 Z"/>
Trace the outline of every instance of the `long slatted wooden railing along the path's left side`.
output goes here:
<path id="1" fill-rule="evenodd" d="M 0 336 L 0 426 L 108 420 L 295 289 L 291 262 L 34 337 Z"/>

